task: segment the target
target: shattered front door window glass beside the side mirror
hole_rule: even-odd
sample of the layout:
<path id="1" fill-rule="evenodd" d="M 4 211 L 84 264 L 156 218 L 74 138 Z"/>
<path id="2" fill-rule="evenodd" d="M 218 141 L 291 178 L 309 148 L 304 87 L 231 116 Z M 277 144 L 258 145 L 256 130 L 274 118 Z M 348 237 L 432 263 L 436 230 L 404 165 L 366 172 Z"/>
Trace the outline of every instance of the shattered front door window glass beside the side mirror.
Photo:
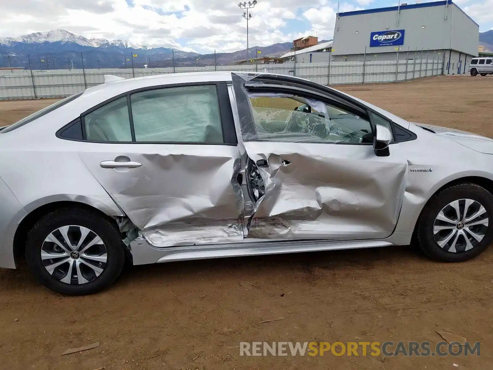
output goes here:
<path id="1" fill-rule="evenodd" d="M 368 119 L 315 99 L 281 93 L 252 93 L 257 141 L 291 143 L 373 142 Z"/>

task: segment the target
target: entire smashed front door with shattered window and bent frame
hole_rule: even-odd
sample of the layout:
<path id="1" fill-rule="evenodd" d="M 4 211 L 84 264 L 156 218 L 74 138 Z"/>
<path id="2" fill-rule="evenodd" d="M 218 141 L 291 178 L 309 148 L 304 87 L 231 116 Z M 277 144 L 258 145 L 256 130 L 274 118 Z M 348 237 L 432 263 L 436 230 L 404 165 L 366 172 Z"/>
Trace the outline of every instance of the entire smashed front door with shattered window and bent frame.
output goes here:
<path id="1" fill-rule="evenodd" d="M 285 81 L 233 74 L 253 215 L 249 238 L 382 239 L 403 201 L 407 161 L 378 156 L 384 117 Z M 299 83 L 298 83 L 299 84 Z M 397 147 L 395 144 L 391 147 Z M 260 181 L 261 180 L 261 181 Z"/>

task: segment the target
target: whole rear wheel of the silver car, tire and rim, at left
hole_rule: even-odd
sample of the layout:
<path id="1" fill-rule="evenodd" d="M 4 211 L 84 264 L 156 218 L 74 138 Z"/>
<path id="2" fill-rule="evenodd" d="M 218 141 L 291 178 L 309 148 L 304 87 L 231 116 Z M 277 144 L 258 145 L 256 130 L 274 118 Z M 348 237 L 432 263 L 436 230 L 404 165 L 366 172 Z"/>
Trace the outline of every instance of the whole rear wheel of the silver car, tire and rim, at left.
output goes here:
<path id="1" fill-rule="evenodd" d="M 84 209 L 58 209 L 28 234 L 26 260 L 51 290 L 79 296 L 97 293 L 120 275 L 125 261 L 121 235 L 109 220 Z"/>

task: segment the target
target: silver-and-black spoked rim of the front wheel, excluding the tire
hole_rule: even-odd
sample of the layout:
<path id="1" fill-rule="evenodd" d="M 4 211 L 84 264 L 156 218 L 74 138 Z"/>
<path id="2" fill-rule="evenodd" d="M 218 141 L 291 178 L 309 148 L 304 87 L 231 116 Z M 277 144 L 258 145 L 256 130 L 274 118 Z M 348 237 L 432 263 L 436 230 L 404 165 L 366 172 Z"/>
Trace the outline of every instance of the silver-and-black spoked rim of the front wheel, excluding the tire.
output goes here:
<path id="1" fill-rule="evenodd" d="M 433 236 L 445 251 L 465 252 L 483 240 L 488 230 L 489 216 L 476 200 L 458 199 L 447 204 L 433 223 Z"/>

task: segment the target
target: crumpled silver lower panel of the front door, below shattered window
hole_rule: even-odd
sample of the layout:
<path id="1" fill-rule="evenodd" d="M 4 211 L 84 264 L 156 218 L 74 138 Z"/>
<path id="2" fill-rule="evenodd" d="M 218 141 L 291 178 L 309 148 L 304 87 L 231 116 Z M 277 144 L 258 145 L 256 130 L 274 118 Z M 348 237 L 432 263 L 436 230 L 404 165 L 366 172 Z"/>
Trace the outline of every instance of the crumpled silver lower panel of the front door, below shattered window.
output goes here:
<path id="1" fill-rule="evenodd" d="M 380 239 L 392 233 L 407 161 L 377 157 L 363 145 L 244 145 L 254 163 L 268 162 L 258 167 L 265 195 L 255 204 L 249 238 Z"/>

